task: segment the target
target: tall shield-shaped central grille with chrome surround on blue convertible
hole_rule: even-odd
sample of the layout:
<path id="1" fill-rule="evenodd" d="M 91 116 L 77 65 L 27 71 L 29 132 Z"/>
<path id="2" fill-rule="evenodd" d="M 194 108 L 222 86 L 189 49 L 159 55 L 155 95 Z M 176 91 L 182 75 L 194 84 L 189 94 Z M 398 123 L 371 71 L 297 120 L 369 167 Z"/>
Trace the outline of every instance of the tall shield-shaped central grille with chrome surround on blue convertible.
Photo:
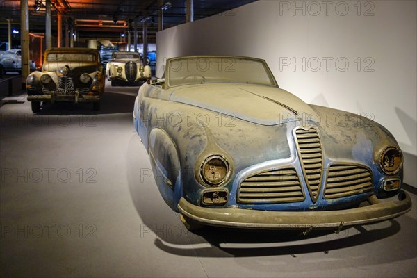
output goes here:
<path id="1" fill-rule="evenodd" d="M 323 166 L 320 137 L 316 129 L 313 128 L 297 129 L 295 136 L 306 185 L 309 188 L 311 199 L 316 202 L 320 192 Z"/>

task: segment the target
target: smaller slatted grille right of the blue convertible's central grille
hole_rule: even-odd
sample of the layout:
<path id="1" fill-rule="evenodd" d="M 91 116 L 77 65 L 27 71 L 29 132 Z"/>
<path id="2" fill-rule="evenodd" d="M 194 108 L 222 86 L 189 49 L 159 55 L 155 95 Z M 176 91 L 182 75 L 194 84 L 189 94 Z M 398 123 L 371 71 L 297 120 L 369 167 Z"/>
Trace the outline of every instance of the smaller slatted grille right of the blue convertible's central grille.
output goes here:
<path id="1" fill-rule="evenodd" d="M 360 165 L 335 164 L 327 171 L 325 198 L 332 199 L 369 192 L 372 172 Z"/>

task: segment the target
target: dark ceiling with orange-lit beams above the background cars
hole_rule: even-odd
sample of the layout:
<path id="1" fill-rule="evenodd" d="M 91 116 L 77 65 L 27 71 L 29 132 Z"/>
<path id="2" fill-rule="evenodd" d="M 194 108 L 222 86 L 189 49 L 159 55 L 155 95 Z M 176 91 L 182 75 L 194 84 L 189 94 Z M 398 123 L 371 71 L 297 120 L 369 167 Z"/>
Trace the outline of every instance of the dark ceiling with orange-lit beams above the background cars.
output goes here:
<path id="1" fill-rule="evenodd" d="M 227 11 L 255 0 L 194 0 L 194 20 Z M 0 42 L 8 41 L 8 22 L 11 19 L 12 28 L 20 30 L 20 0 L 0 0 Z M 45 0 L 29 0 L 29 31 L 35 34 L 45 33 L 45 8 L 35 11 L 35 2 Z M 63 31 L 65 22 L 68 26 L 76 26 L 79 38 L 107 39 L 120 41 L 120 35 L 135 26 L 138 22 L 139 42 L 142 34 L 141 21 L 147 20 L 148 42 L 156 40 L 158 17 L 161 7 L 166 3 L 171 7 L 163 11 L 163 28 L 170 28 L 186 22 L 186 0 L 51 0 L 51 29 L 52 35 L 57 32 L 57 14 L 63 15 Z M 115 20 L 117 20 L 116 23 Z M 63 35 L 64 36 L 64 35 Z M 17 45 L 19 34 L 13 35 L 13 44 Z M 64 39 L 63 39 L 64 40 Z M 133 36 L 132 36 L 133 43 Z"/>

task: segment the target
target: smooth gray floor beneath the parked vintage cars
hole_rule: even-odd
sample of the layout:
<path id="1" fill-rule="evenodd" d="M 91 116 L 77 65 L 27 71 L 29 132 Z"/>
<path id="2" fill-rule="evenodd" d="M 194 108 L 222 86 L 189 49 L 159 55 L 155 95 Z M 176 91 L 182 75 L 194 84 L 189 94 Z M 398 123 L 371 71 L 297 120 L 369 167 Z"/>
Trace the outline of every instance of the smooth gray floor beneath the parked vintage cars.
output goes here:
<path id="1" fill-rule="evenodd" d="M 186 231 L 133 129 L 137 90 L 108 87 L 99 113 L 0 108 L 1 277 L 417 276 L 415 191 L 407 215 L 340 234 Z"/>

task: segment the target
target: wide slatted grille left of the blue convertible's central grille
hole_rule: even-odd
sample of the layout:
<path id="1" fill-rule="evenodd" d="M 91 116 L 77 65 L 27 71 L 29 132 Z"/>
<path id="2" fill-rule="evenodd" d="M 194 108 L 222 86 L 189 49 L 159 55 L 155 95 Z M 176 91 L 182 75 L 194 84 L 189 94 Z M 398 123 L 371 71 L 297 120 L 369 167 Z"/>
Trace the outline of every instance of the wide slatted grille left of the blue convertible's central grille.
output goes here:
<path id="1" fill-rule="evenodd" d="M 274 204 L 301 202 L 304 194 L 293 167 L 262 172 L 240 183 L 238 202 L 243 204 Z"/>

